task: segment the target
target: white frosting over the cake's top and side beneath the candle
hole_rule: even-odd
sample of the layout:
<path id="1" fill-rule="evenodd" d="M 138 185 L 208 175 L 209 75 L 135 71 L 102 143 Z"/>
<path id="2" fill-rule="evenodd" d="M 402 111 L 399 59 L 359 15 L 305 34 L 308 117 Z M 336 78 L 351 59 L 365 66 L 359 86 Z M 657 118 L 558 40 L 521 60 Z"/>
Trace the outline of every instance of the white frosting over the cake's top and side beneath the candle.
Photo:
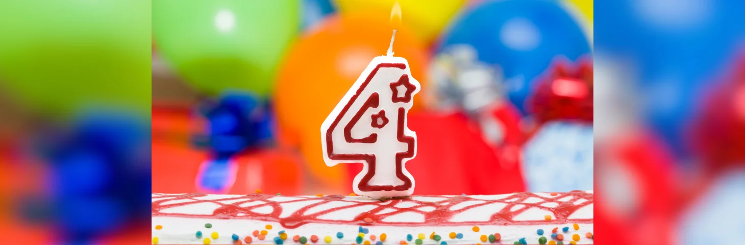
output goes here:
<path id="1" fill-rule="evenodd" d="M 576 193 L 575 193 L 576 194 Z M 455 210 L 449 209 L 437 209 L 446 205 L 444 203 L 457 202 L 457 197 L 454 196 L 449 202 L 442 202 L 447 200 L 448 197 L 412 197 L 411 200 L 419 202 L 428 202 L 426 205 L 415 206 L 415 202 L 411 200 L 402 200 L 396 202 L 396 205 L 390 205 L 393 201 L 380 202 L 373 200 L 373 203 L 367 202 L 368 199 L 365 197 L 352 197 L 343 198 L 342 200 L 331 200 L 326 203 L 321 203 L 325 199 L 317 197 L 285 197 L 277 198 L 271 197 L 267 199 L 267 202 L 261 200 L 250 200 L 250 196 L 237 196 L 237 195 L 207 195 L 198 199 L 209 200 L 200 203 L 189 203 L 197 199 L 197 197 L 188 198 L 188 202 L 177 202 L 178 200 L 165 200 L 158 201 L 159 205 L 163 206 L 163 209 L 159 210 L 160 214 L 174 214 L 171 216 L 153 216 L 152 223 L 152 236 L 159 238 L 159 244 L 203 244 L 204 238 L 210 238 L 212 232 L 218 232 L 219 238 L 212 240 L 212 244 L 232 244 L 232 234 L 238 235 L 241 241 L 246 236 L 251 236 L 253 239 L 252 244 L 274 244 L 273 238 L 277 237 L 280 230 L 284 230 L 288 233 L 288 239 L 284 241 L 285 244 L 298 244 L 292 241 L 294 235 L 305 236 L 310 239 L 311 235 L 317 235 L 319 241 L 315 244 L 326 244 L 323 238 L 326 235 L 332 238 L 331 244 L 355 244 L 355 238 L 358 235 L 358 223 L 346 223 L 355 222 L 355 217 L 359 215 L 373 211 L 373 209 L 381 209 L 376 211 L 377 214 L 389 214 L 381 217 L 381 220 L 375 220 L 375 223 L 371 226 L 365 226 L 370 230 L 370 233 L 365 235 L 364 241 L 370 241 L 370 235 L 375 235 L 378 238 L 375 241 L 370 241 L 371 244 L 375 244 L 379 241 L 381 233 L 386 233 L 387 240 L 384 244 L 399 244 L 399 241 L 406 240 L 406 235 L 413 235 L 414 239 L 419 233 L 425 234 L 424 244 L 440 244 L 440 241 L 434 241 L 429 238 L 432 232 L 442 237 L 441 241 L 446 241 L 448 244 L 489 244 L 488 241 L 482 242 L 480 240 L 481 235 L 490 235 L 495 232 L 499 232 L 501 235 L 501 241 L 492 244 L 513 244 L 520 238 L 525 238 L 528 244 L 538 244 L 538 239 L 542 236 L 551 241 L 551 229 L 554 227 L 572 227 L 573 223 L 579 223 L 580 229 L 575 231 L 570 229 L 569 232 L 561 232 L 564 235 L 564 244 L 569 244 L 571 236 L 574 234 L 580 235 L 580 241 L 577 244 L 592 244 L 593 240 L 586 238 L 587 232 L 594 232 L 593 224 L 586 223 L 586 219 L 592 220 L 594 206 L 591 200 L 584 198 L 578 198 L 574 200 L 574 195 L 565 197 L 557 200 L 555 196 L 547 197 L 545 194 L 536 194 L 537 197 L 531 200 L 530 196 L 524 198 L 520 203 L 514 203 L 519 200 L 519 197 L 512 197 L 514 194 L 505 195 L 494 195 L 494 196 L 466 196 L 472 199 L 478 200 L 466 200 L 457 205 Z M 563 195 L 563 194 L 561 194 Z M 153 201 L 159 200 L 160 197 L 165 197 L 162 194 L 154 194 Z M 241 198 L 242 197 L 242 198 Z M 524 196 L 523 196 L 524 197 Z M 542 198 L 538 198 L 542 197 Z M 522 198 L 522 197 L 521 197 Z M 545 203 L 544 199 L 547 200 Z M 592 197 L 588 197 L 592 199 Z M 348 200 L 348 201 L 347 201 Z M 486 203 L 486 200 L 492 200 Z M 511 202 L 510 202 L 511 200 Z M 180 203 L 181 206 L 165 207 L 168 202 Z M 324 212 L 317 216 L 316 222 L 305 223 L 297 228 L 290 229 L 283 227 L 282 224 L 276 222 L 267 222 L 261 220 L 253 220 L 251 215 L 256 216 L 258 214 L 270 214 L 274 211 L 271 203 L 276 203 L 282 207 L 282 212 L 279 217 L 290 217 L 297 213 L 297 211 L 303 208 L 310 208 L 305 211 L 303 215 L 310 214 L 311 216 L 323 212 L 329 211 L 330 209 L 337 209 L 335 211 Z M 568 203 L 571 202 L 571 203 Z M 177 214 L 195 214 L 195 215 L 212 215 L 215 210 L 221 206 L 225 206 L 223 203 L 232 203 L 230 205 L 246 207 L 247 211 L 253 212 L 252 214 L 246 214 L 244 212 L 238 212 L 235 218 L 224 218 L 224 217 L 178 217 Z M 380 204 L 385 203 L 384 207 Z M 559 205 L 580 205 L 580 209 L 574 211 L 568 217 L 565 223 L 551 223 L 536 224 L 534 222 L 525 222 L 525 220 L 534 220 L 537 223 L 545 222 L 545 215 L 551 216 L 551 220 L 556 220 L 556 216 L 552 207 Z M 503 210 L 510 206 L 509 211 L 520 211 L 516 213 L 513 220 L 527 223 L 527 225 L 505 225 L 500 223 L 499 225 L 478 225 L 480 232 L 473 232 L 473 223 L 484 223 L 489 222 L 492 214 L 497 212 L 504 212 Z M 583 206 L 584 205 L 584 206 Z M 522 210 L 521 210 L 522 209 Z M 425 214 L 431 211 L 451 211 L 453 216 L 447 223 L 440 223 L 437 226 L 425 224 Z M 275 214 L 276 215 L 276 214 Z M 323 223 L 323 220 L 335 220 L 332 223 Z M 579 221 L 578 221 L 579 220 Z M 211 223 L 212 228 L 205 228 L 205 223 Z M 407 224 L 402 224 L 407 223 Z M 411 225 L 408 223 L 422 223 L 422 225 Z M 460 224 L 462 223 L 462 225 Z M 254 230 L 263 230 L 264 226 L 272 225 L 274 228 L 269 231 L 269 235 L 266 236 L 264 241 L 259 241 L 258 238 L 251 235 Z M 156 225 L 162 226 L 162 229 L 154 229 Z M 543 229 L 544 235 L 537 235 L 536 230 Z M 202 238 L 197 238 L 195 232 L 201 231 L 203 233 Z M 336 237 L 337 232 L 343 232 L 344 237 L 339 239 Z M 450 232 L 462 233 L 462 239 L 451 239 L 448 237 Z M 408 241 L 409 244 L 413 244 L 413 241 Z M 308 241 L 308 244 L 313 244 Z"/>

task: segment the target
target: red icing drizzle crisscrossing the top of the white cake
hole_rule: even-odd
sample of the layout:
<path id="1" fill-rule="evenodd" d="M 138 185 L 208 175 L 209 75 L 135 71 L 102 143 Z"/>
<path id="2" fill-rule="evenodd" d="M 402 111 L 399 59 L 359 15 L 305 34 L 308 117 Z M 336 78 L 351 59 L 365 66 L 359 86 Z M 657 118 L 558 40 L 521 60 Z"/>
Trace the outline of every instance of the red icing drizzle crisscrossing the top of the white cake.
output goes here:
<path id="1" fill-rule="evenodd" d="M 204 197 L 207 194 L 176 194 L 176 195 L 166 195 L 166 194 L 153 194 L 157 196 L 153 196 L 153 198 L 162 198 L 162 197 L 173 197 L 168 199 L 159 199 L 152 202 L 152 216 L 153 217 L 200 217 L 200 218 L 218 218 L 218 219 L 250 219 L 250 220 L 261 220 L 261 221 L 267 221 L 267 222 L 276 222 L 280 223 L 282 226 L 284 226 L 287 229 L 293 229 L 297 228 L 298 226 L 302 226 L 306 223 L 336 223 L 336 224 L 354 224 L 354 225 L 360 225 L 360 226 L 477 226 L 477 225 L 543 225 L 543 224 L 565 224 L 565 223 L 592 223 L 592 218 L 589 219 L 571 219 L 568 220 L 568 217 L 571 216 L 571 214 L 574 214 L 574 211 L 577 211 L 577 209 L 580 209 L 584 206 L 591 205 L 593 202 L 593 194 L 587 193 L 585 191 L 571 191 L 567 193 L 559 193 L 557 196 L 554 197 L 541 197 L 536 194 L 530 193 L 530 192 L 521 192 L 512 194 L 509 197 L 504 197 L 500 200 L 481 200 L 474 197 L 468 197 L 468 196 L 451 196 L 451 197 L 443 197 L 443 196 L 419 196 L 419 197 L 441 197 L 445 200 L 437 201 L 437 202 L 426 202 L 426 201 L 420 201 L 420 200 L 413 200 L 411 198 L 405 198 L 405 199 L 399 199 L 399 200 L 388 200 L 386 202 L 376 203 L 377 200 L 373 203 L 370 202 L 355 202 L 354 200 L 343 200 L 344 196 L 324 196 L 324 197 L 296 197 L 296 198 L 302 198 L 300 200 L 291 200 L 291 201 L 285 201 L 285 202 L 277 202 L 269 200 L 272 197 L 279 197 L 276 195 L 270 195 L 270 194 L 248 194 L 244 196 L 235 196 L 220 200 L 194 200 L 195 197 Z M 537 203 L 522 203 L 522 201 L 527 200 L 530 197 L 537 197 L 543 199 L 540 202 Z M 570 200 L 567 201 L 559 201 L 562 198 L 565 197 L 571 197 Z M 358 197 L 358 198 L 364 198 L 364 197 Z M 220 203 L 220 201 L 226 201 L 226 200 L 241 200 L 241 199 L 247 199 L 235 203 L 225 204 Z M 577 203 L 574 204 L 577 200 L 585 199 L 587 201 L 583 203 Z M 170 202 L 174 200 L 190 200 L 188 203 L 174 203 L 174 204 L 167 204 L 162 205 L 162 203 Z M 254 205 L 254 206 L 248 206 L 248 207 L 241 207 L 240 205 L 242 203 L 250 203 L 254 201 L 263 201 L 265 203 Z M 282 203 L 294 203 L 294 202 L 304 202 L 307 200 L 321 200 L 318 203 L 314 203 L 311 205 L 307 205 L 302 207 L 301 209 L 298 209 L 294 213 L 290 214 L 288 217 L 279 217 L 280 214 L 282 214 L 282 206 L 280 204 Z M 455 211 L 451 211 L 450 207 L 455 206 L 459 203 L 463 203 L 466 201 L 484 201 L 484 203 L 475 204 L 472 206 L 467 206 L 463 209 L 458 209 Z M 506 200 L 511 200 L 510 202 L 507 202 Z M 324 211 L 319 211 L 313 214 L 304 215 L 305 211 L 308 211 L 308 209 L 311 209 L 315 206 L 320 206 L 325 203 L 330 203 L 333 201 L 344 201 L 344 202 L 350 202 L 354 203 L 349 206 L 341 206 L 336 207 L 332 209 L 326 209 Z M 401 202 L 413 202 L 418 205 L 412 206 L 409 208 L 396 208 L 396 204 Z M 558 203 L 558 206 L 554 208 L 548 208 L 545 206 L 541 206 L 542 203 L 551 203 L 555 202 Z M 191 205 L 194 203 L 215 203 L 218 204 L 220 207 L 218 209 L 215 209 L 215 211 L 212 214 L 165 214 L 161 213 L 161 210 L 168 209 L 168 208 L 174 208 L 178 206 L 186 206 Z M 489 217 L 488 221 L 468 221 L 468 222 L 451 222 L 451 217 L 453 217 L 455 214 L 459 214 L 460 212 L 473 209 L 479 206 L 486 206 L 492 203 L 506 203 L 507 206 L 504 206 L 500 211 L 496 212 L 495 214 L 492 214 L 491 217 Z M 358 214 L 354 217 L 353 220 L 347 221 L 347 220 L 322 220 L 318 217 L 323 214 L 329 214 L 332 211 L 339 211 L 342 209 L 352 209 L 358 206 L 367 206 L 367 205 L 375 205 L 375 209 L 372 209 L 370 211 L 362 212 L 361 214 Z M 523 205 L 522 208 L 516 209 L 515 211 L 510 211 L 513 209 L 516 205 Z M 251 209 L 261 208 L 264 206 L 270 206 L 273 208 L 273 210 L 269 214 L 259 214 L 255 213 L 253 211 L 250 211 Z M 434 211 L 420 211 L 418 208 L 421 208 L 423 206 L 432 206 L 434 207 Z M 539 208 L 544 209 L 547 211 L 550 211 L 553 213 L 554 218 L 551 220 L 513 220 L 513 217 L 516 217 L 517 215 L 521 214 L 523 211 L 526 211 L 530 208 Z M 385 214 L 377 214 L 379 211 L 382 211 L 384 209 L 396 209 L 396 211 L 391 211 Z M 423 214 L 425 217 L 425 221 L 422 223 L 418 222 L 397 222 L 397 223 L 386 223 L 381 222 L 380 220 L 383 220 L 385 217 L 390 217 L 395 214 L 400 214 L 407 211 L 413 211 L 417 212 L 419 214 Z M 239 216 L 238 214 L 241 214 L 242 216 Z M 365 218 L 370 218 L 373 220 L 372 223 L 367 223 L 364 221 Z"/>

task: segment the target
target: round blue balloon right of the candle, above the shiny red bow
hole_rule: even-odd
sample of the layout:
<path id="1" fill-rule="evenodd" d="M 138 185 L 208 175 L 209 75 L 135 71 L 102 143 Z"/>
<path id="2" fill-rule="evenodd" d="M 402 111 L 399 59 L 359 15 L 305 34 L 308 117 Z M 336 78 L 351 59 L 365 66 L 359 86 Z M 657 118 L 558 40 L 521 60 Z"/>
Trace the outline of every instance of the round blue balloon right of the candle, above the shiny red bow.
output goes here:
<path id="1" fill-rule="evenodd" d="M 535 78 L 557 56 L 577 60 L 590 54 L 586 34 L 559 1 L 485 1 L 466 12 L 444 37 L 449 45 L 472 45 L 478 58 L 498 65 L 510 101 L 525 112 Z"/>

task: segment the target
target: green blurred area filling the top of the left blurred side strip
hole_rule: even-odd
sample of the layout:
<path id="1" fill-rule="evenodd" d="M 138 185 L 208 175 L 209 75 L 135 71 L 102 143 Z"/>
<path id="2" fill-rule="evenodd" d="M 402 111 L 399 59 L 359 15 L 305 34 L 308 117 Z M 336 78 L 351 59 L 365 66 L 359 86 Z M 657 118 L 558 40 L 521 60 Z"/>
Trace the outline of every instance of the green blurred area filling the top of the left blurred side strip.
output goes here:
<path id="1" fill-rule="evenodd" d="M 2 1 L 0 89 L 46 115 L 150 113 L 150 1 Z"/>

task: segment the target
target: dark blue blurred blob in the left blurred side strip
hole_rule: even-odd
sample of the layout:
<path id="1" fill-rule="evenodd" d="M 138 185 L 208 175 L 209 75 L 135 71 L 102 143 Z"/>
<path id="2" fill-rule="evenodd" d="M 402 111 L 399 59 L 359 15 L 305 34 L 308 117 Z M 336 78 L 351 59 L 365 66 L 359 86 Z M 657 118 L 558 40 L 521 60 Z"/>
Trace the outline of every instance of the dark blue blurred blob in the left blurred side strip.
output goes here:
<path id="1" fill-rule="evenodd" d="M 57 226 L 63 244 L 91 244 L 130 221 L 148 219 L 147 121 L 110 109 L 89 111 L 71 127 L 40 136 L 38 150 L 51 170 L 50 193 L 32 198 L 22 209 L 48 213 L 43 218 Z"/>

